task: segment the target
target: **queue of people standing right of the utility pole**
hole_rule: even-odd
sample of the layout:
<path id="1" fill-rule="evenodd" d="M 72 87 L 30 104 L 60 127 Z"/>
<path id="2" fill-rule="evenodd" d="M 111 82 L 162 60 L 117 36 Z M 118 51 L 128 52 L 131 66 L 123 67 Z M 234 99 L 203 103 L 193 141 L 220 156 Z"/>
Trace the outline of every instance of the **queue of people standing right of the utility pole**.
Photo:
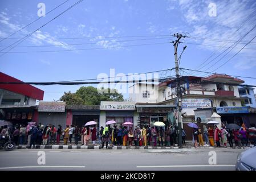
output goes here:
<path id="1" fill-rule="evenodd" d="M 217 125 L 207 128 L 204 126 L 203 131 L 200 128 L 192 130 L 194 147 L 200 146 L 217 146 L 227 147 L 227 143 L 233 147 L 251 147 L 256 146 L 256 129 L 255 124 L 251 123 L 249 129 L 243 123 L 240 129 L 227 129 L 222 124 L 221 129 Z M 204 139 L 203 139 L 204 138 Z M 234 145 L 233 145 L 234 144 Z"/>

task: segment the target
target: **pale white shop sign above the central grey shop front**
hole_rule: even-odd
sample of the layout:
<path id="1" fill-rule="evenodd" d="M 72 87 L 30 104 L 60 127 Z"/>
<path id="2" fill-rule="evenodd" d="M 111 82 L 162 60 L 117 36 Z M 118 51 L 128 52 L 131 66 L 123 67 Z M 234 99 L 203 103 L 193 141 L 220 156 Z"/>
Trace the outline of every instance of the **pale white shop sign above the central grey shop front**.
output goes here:
<path id="1" fill-rule="evenodd" d="M 100 110 L 135 110 L 135 102 L 100 102 Z"/>

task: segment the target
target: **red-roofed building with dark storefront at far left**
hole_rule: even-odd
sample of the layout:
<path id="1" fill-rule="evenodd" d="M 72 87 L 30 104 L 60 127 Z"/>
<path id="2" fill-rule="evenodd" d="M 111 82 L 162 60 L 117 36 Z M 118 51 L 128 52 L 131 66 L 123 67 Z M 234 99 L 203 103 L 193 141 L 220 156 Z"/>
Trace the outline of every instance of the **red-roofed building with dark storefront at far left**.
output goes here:
<path id="1" fill-rule="evenodd" d="M 22 82 L 0 72 L 0 82 Z M 38 121 L 36 101 L 43 100 L 43 90 L 29 84 L 0 84 L 0 119 L 19 124 Z"/>

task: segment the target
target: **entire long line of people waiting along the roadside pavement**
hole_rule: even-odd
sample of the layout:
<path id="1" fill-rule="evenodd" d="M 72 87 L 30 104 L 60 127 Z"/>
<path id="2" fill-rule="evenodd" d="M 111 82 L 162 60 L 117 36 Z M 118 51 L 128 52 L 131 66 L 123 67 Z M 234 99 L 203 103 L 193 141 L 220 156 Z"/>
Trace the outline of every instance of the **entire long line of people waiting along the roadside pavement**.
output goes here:
<path id="1" fill-rule="evenodd" d="M 1 127 L 0 135 L 4 133 L 5 129 Z M 64 129 L 58 125 L 58 129 L 54 125 L 43 126 L 35 125 L 30 123 L 29 125 L 20 125 L 15 127 L 12 134 L 13 141 L 18 145 L 27 144 L 27 146 L 33 146 L 35 144 L 59 144 L 60 139 L 63 139 L 64 145 L 76 144 L 81 140 L 82 145 L 88 146 L 89 142 L 93 145 L 99 144 L 106 147 L 108 144 L 113 146 L 167 146 L 172 147 L 177 144 L 177 126 L 166 126 L 166 127 L 149 127 L 149 126 L 116 126 L 111 127 L 107 125 L 97 130 L 96 125 L 94 126 L 73 126 L 67 125 Z M 182 129 L 182 144 L 185 142 L 186 133 Z M 251 127 L 247 129 L 245 124 L 238 130 L 226 129 L 225 125 L 222 124 L 221 129 L 217 126 L 206 127 L 203 130 L 193 129 L 192 131 L 194 147 L 199 146 L 217 146 L 233 147 L 233 142 L 237 147 L 251 146 L 256 144 L 256 129 L 254 123 L 251 123 Z M 74 143 L 72 139 L 75 139 Z"/>

